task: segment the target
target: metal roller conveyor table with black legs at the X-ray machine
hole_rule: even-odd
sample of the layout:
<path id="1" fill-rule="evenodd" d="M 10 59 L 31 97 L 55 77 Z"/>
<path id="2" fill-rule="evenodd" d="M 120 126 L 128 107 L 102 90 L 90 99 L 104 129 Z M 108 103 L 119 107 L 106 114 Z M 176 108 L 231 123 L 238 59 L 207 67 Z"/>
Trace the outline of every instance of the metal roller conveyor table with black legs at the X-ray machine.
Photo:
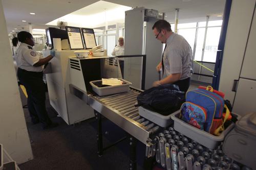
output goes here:
<path id="1" fill-rule="evenodd" d="M 150 137 L 155 134 L 160 127 L 150 122 L 150 120 L 141 117 L 138 107 L 134 106 L 141 90 L 130 87 L 130 89 L 124 93 L 99 96 L 88 94 L 73 85 L 70 85 L 70 89 L 71 93 L 87 102 L 87 104 L 94 109 L 95 117 L 98 122 L 97 142 L 99 156 L 102 156 L 103 150 L 110 148 L 112 145 L 124 139 L 122 138 L 109 147 L 103 148 L 102 115 L 130 134 L 130 169 L 136 169 L 137 140 L 146 145 L 147 156 L 152 154 L 155 145 Z"/>

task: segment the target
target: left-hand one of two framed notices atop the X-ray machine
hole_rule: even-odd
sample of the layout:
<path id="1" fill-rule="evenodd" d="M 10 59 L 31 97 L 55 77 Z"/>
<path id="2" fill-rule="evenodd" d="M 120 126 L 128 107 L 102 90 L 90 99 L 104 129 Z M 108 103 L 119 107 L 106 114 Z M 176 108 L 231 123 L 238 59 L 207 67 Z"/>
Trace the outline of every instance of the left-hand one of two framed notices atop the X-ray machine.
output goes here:
<path id="1" fill-rule="evenodd" d="M 68 33 L 69 44 L 71 50 L 83 49 L 82 35 L 80 28 L 77 27 L 65 27 Z"/>

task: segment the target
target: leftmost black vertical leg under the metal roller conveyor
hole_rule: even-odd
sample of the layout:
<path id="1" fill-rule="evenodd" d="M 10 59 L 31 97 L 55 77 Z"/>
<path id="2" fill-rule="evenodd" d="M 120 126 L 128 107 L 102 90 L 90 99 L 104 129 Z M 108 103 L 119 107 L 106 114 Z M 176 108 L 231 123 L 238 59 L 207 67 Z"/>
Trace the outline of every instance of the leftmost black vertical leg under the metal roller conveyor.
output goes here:
<path id="1" fill-rule="evenodd" d="M 103 154 L 102 147 L 102 126 L 101 126 L 101 114 L 94 110 L 95 117 L 98 122 L 98 132 L 97 132 L 97 143 L 98 143 L 98 156 L 101 157 Z"/>

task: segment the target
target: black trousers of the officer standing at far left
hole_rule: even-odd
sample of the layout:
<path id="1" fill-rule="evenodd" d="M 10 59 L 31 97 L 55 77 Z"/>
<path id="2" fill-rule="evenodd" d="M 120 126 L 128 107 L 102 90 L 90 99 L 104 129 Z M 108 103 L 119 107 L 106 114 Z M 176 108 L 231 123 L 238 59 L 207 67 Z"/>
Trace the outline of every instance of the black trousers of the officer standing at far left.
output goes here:
<path id="1" fill-rule="evenodd" d="M 52 124 L 46 111 L 45 83 L 42 81 L 42 72 L 18 68 L 17 75 L 20 84 L 25 86 L 28 93 L 27 104 L 32 122 L 39 120 L 43 127 Z"/>

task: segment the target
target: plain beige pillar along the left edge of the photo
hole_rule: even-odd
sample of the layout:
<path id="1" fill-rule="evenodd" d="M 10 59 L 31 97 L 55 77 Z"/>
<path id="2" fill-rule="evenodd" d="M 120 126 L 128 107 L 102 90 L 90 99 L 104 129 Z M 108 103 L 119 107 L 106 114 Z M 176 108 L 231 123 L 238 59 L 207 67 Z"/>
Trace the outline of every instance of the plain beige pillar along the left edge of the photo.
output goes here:
<path id="1" fill-rule="evenodd" d="M 33 159 L 0 1 L 0 143 L 17 162 Z"/>

